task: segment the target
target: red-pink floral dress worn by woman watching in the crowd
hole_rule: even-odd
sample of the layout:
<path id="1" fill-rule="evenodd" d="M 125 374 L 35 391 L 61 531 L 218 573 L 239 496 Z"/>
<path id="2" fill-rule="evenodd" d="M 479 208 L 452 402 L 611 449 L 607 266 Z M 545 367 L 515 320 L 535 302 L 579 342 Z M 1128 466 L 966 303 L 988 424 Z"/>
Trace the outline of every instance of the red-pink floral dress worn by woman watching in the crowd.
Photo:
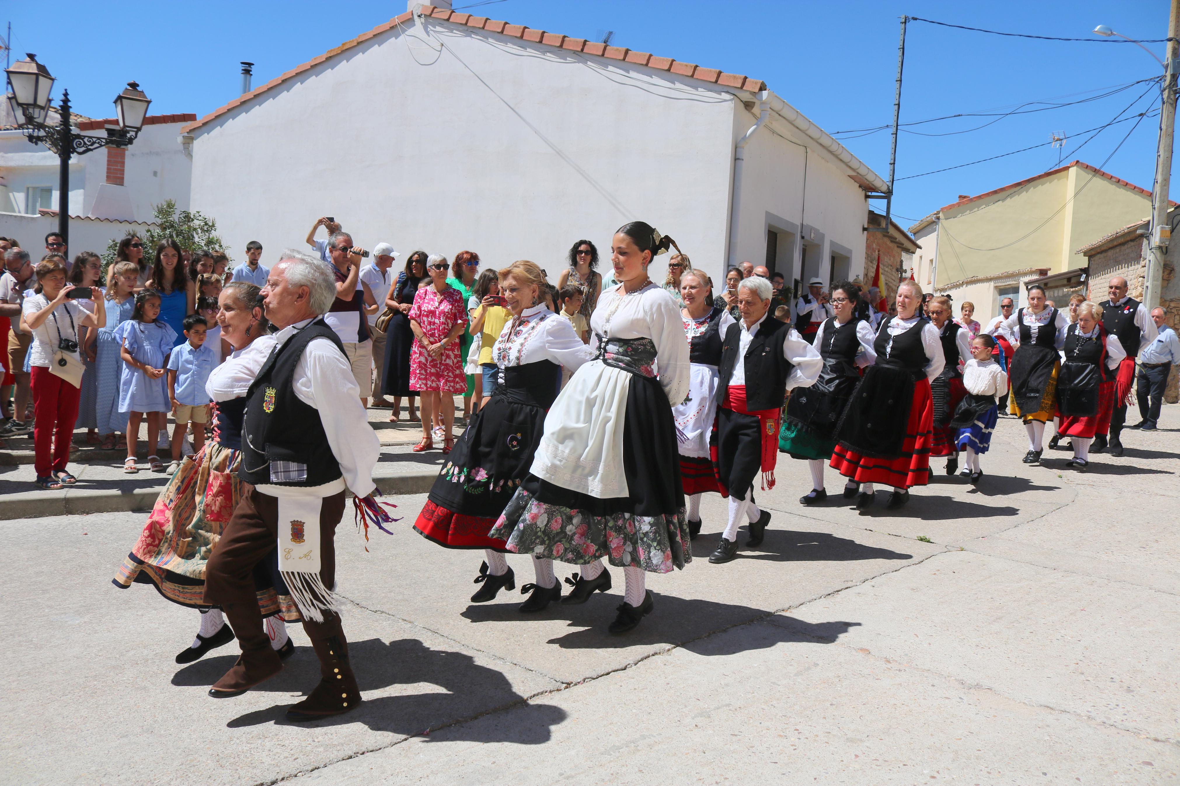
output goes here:
<path id="1" fill-rule="evenodd" d="M 421 325 L 426 338 L 434 344 L 446 338 L 455 325 L 467 324 L 467 304 L 463 293 L 453 286 L 447 286 L 440 295 L 433 284 L 425 283 L 418 288 L 408 316 Z M 421 342 L 415 341 L 409 350 L 409 389 L 465 392 L 467 377 L 463 372 L 460 344 L 459 341 L 451 342 L 442 350 L 442 357 L 435 359 Z"/>

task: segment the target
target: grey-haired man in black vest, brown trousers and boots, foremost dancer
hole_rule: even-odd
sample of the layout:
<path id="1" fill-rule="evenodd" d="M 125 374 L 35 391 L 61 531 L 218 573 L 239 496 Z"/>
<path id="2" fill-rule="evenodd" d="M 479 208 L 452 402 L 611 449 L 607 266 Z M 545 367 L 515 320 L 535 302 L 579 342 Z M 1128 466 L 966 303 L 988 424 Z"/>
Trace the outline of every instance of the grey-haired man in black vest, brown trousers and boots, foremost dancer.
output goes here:
<path id="1" fill-rule="evenodd" d="M 262 297 L 278 332 L 247 392 L 238 477 L 254 490 L 234 511 L 205 576 L 205 600 L 224 609 L 242 655 L 209 695 L 241 695 L 283 668 L 263 632 L 253 579 L 277 542 L 278 570 L 299 603 L 321 675 L 287 718 L 313 720 L 349 712 L 361 700 L 333 594 L 333 539 L 346 486 L 358 497 L 373 493 L 381 447 L 340 338 L 323 321 L 336 298 L 328 266 L 283 251 Z"/>

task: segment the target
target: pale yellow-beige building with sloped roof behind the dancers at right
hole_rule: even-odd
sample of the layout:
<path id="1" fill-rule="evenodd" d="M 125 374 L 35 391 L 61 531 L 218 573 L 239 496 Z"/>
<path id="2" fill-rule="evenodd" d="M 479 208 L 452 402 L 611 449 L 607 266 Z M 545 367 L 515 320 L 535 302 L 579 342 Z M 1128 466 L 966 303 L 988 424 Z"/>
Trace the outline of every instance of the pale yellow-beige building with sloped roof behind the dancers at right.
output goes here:
<path id="1" fill-rule="evenodd" d="M 1073 161 L 977 197 L 961 194 L 911 226 L 919 246 L 913 277 L 956 304 L 971 300 L 975 318 L 986 322 L 1002 297 L 1022 300 L 1031 279 L 1061 278 L 1067 291 L 1083 272 L 1077 249 L 1150 210 L 1146 189 Z"/>

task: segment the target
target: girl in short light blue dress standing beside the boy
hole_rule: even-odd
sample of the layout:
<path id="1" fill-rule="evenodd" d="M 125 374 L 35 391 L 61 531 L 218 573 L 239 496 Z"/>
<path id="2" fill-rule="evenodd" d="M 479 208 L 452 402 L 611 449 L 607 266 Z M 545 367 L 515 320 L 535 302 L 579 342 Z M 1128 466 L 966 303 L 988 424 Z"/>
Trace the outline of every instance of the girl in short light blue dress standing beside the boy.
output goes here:
<path id="1" fill-rule="evenodd" d="M 145 289 L 136 295 L 131 318 L 116 330 L 122 344 L 123 375 L 119 381 L 119 411 L 127 412 L 127 458 L 124 473 L 137 473 L 136 442 L 139 421 L 148 415 L 148 449 L 156 450 L 159 430 L 166 427 L 172 402 L 168 395 L 164 369 L 176 343 L 176 331 L 159 321 L 159 293 Z M 152 471 L 162 471 L 164 463 L 155 453 L 148 456 Z"/>

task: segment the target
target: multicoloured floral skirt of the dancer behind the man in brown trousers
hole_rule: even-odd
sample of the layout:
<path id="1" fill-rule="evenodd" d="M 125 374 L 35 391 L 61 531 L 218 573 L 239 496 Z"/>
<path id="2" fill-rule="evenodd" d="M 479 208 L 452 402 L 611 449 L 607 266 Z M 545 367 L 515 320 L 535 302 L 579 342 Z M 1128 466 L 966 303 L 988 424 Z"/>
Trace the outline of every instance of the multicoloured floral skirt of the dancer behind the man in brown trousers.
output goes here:
<path id="1" fill-rule="evenodd" d="M 205 602 L 205 566 L 238 501 L 250 490 L 237 477 L 241 453 L 206 442 L 181 464 L 160 491 L 148 523 L 112 583 L 126 589 L 150 583 L 168 600 L 194 608 Z M 278 574 L 277 550 L 254 570 L 258 609 L 287 622 L 302 620 Z"/>

